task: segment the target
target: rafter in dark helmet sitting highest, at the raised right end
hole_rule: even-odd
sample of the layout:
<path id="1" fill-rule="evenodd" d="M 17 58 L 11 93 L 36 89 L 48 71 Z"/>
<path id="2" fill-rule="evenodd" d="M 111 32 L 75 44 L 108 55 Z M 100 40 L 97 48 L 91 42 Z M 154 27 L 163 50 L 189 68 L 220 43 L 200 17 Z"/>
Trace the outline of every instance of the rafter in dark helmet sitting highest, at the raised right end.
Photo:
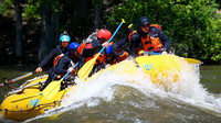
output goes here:
<path id="1" fill-rule="evenodd" d="M 172 41 L 168 38 L 159 25 L 151 24 L 147 16 L 141 16 L 137 22 L 137 31 L 131 31 L 127 37 L 116 42 L 113 47 L 123 47 L 129 42 L 130 55 L 134 57 L 140 51 L 167 54 Z"/>

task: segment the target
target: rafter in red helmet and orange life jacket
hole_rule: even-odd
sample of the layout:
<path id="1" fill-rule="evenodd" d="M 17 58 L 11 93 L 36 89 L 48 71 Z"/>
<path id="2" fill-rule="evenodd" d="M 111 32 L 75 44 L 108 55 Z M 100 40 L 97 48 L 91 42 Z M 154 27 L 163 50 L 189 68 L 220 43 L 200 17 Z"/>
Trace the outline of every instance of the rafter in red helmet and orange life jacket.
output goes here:
<path id="1" fill-rule="evenodd" d="M 81 54 L 80 66 L 82 67 L 86 62 L 94 58 L 103 46 L 107 47 L 109 45 L 107 41 L 110 37 L 112 33 L 108 30 L 101 29 L 97 32 L 97 40 L 94 40 L 90 43 L 83 43 L 77 49 L 77 52 Z M 105 67 L 105 52 L 103 52 L 96 59 L 92 72 L 96 72 L 104 67 Z"/>

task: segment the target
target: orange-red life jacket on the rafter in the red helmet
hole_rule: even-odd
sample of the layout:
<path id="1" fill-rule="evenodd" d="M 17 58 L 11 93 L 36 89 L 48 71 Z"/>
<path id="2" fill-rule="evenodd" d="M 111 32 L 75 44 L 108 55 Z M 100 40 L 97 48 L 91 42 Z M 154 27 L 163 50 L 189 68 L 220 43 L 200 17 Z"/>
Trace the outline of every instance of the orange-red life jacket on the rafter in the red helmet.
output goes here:
<path id="1" fill-rule="evenodd" d="M 80 47 L 77 48 L 77 52 L 80 55 L 83 54 L 83 51 L 85 49 L 85 46 L 87 45 L 88 43 L 83 43 L 82 45 L 80 45 Z M 85 57 L 85 60 L 84 63 L 91 60 L 92 58 L 96 57 L 97 54 L 91 56 L 91 57 Z M 105 62 L 105 57 L 104 57 L 104 54 L 99 54 L 99 56 L 97 57 L 96 59 L 96 63 L 95 64 L 101 64 L 101 63 L 104 63 Z"/>

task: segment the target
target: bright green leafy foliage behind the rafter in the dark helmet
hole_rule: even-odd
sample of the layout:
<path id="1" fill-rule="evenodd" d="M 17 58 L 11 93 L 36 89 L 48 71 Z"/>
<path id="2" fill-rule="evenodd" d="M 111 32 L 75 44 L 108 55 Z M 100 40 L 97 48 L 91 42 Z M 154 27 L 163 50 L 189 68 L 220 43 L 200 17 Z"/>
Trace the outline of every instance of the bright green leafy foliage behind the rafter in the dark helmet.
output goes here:
<path id="1" fill-rule="evenodd" d="M 214 0 L 125 0 L 114 7 L 107 19 L 109 26 L 123 18 L 136 26 L 139 16 L 146 15 L 173 41 L 177 55 L 218 62 L 221 60 L 221 18 L 217 10 Z"/>

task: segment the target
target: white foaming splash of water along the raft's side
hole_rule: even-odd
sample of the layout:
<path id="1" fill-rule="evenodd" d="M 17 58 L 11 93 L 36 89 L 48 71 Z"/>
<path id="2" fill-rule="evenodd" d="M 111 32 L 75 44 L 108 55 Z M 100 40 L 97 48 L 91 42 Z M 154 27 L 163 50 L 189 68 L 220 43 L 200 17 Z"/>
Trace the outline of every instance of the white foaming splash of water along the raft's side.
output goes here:
<path id="1" fill-rule="evenodd" d="M 215 115 L 221 115 L 221 94 L 209 93 L 200 83 L 199 66 L 191 69 L 186 69 L 183 66 L 177 82 L 171 82 L 165 89 L 162 86 L 151 82 L 148 76 L 138 69 L 134 75 L 101 75 L 98 78 L 92 79 L 88 82 L 76 80 L 77 86 L 66 94 L 60 108 L 49 111 L 46 114 L 36 116 L 40 119 L 53 115 L 61 112 L 66 112 L 73 109 L 86 107 L 96 107 L 101 100 L 112 101 L 116 92 L 116 86 L 130 87 L 146 97 L 160 97 L 161 99 L 169 99 L 177 102 L 182 102 L 188 105 L 197 107 L 203 111 L 212 111 Z M 147 102 L 148 103 L 148 102 Z M 133 104 L 133 102 L 131 102 Z M 149 103 L 155 105 L 154 103 Z M 137 105 L 139 107 L 139 105 Z M 157 107 L 156 107 L 157 108 Z M 33 120 L 33 119 L 32 119 Z M 28 120 L 32 121 L 32 120 Z"/>

